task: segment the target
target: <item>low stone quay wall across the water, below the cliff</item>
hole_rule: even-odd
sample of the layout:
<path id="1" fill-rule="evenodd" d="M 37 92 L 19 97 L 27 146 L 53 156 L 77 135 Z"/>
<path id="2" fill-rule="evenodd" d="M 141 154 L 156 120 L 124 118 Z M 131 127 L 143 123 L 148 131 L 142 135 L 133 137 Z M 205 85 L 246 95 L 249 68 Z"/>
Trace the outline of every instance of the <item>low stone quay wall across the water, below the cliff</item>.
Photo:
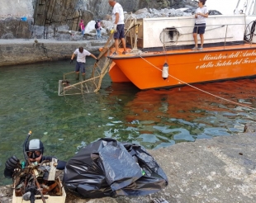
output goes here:
<path id="1" fill-rule="evenodd" d="M 0 40 L 0 67 L 70 59 L 73 51 L 79 46 L 97 53 L 103 45 L 105 45 L 103 40 Z"/>

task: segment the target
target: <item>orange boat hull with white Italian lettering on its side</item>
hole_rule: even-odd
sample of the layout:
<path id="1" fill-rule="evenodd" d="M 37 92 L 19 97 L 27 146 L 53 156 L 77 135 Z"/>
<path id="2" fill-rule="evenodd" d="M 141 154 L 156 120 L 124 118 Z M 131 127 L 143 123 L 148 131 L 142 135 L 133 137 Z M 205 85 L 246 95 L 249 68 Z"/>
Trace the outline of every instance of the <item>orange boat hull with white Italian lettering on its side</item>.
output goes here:
<path id="1" fill-rule="evenodd" d="M 110 56 L 115 63 L 113 82 L 127 82 L 140 89 L 173 87 L 187 83 L 206 83 L 256 74 L 256 46 L 237 45 L 206 48 L 203 51 L 172 50 L 141 55 Z M 164 63 L 168 64 L 168 78 L 162 78 Z M 119 73 L 118 73 L 119 72 Z M 119 74 L 119 76 L 118 76 Z M 127 78 L 126 81 L 116 78 Z"/>

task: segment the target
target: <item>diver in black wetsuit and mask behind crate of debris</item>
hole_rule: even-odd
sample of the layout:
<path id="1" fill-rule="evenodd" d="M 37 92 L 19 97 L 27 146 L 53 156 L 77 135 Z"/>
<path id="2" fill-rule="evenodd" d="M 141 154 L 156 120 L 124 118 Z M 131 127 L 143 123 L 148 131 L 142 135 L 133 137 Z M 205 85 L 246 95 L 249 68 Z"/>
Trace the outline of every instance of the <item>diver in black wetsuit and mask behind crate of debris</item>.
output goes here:
<path id="1" fill-rule="evenodd" d="M 49 160 L 52 158 L 50 156 L 43 156 L 44 145 L 40 139 L 31 139 L 30 142 L 26 145 L 26 155 L 29 158 L 31 163 L 41 163 L 42 161 Z M 4 176 L 12 177 L 14 169 L 17 168 L 17 164 L 20 163 L 20 160 L 16 156 L 12 156 L 7 159 L 5 163 Z M 66 166 L 66 162 L 58 160 L 57 169 L 63 170 Z"/>

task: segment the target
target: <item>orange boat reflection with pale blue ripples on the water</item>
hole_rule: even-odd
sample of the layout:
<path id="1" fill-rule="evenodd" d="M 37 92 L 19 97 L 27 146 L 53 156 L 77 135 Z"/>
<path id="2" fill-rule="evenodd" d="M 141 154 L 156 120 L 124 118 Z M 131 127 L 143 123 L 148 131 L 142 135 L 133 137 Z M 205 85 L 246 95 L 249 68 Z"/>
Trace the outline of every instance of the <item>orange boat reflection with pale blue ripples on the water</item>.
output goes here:
<path id="1" fill-rule="evenodd" d="M 244 125 L 256 119 L 255 111 L 239 106 L 256 106 L 254 79 L 197 84 L 196 87 L 217 97 L 187 86 L 137 92 L 124 107 L 129 109 L 126 122 L 136 129 L 130 138 L 147 148 L 157 149 L 183 141 L 234 135 L 243 132 Z M 163 136 L 168 139 L 160 139 Z"/>

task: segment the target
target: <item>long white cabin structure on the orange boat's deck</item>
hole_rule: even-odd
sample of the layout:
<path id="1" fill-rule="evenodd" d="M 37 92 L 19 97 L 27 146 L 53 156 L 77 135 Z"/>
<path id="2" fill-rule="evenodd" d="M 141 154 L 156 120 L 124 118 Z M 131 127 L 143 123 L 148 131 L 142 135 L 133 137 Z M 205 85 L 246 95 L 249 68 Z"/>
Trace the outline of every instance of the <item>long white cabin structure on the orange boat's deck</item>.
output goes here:
<path id="1" fill-rule="evenodd" d="M 235 12 L 239 9 L 239 3 Z M 250 3 L 246 10 L 247 15 L 213 15 L 206 18 L 206 32 L 204 34 L 204 47 L 217 45 L 241 45 L 244 43 L 256 43 L 254 27 L 256 26 L 256 4 Z M 241 10 L 240 10 L 241 11 Z M 156 49 L 186 49 L 194 45 L 192 31 L 195 24 L 195 17 L 159 17 L 133 19 L 135 29 L 131 29 L 126 35 L 126 43 L 131 47 L 142 50 Z M 126 22 L 129 27 L 132 21 Z M 135 26 L 138 25 L 138 26 Z M 200 36 L 198 44 L 200 45 Z M 137 42 L 137 43 L 135 43 Z"/>

